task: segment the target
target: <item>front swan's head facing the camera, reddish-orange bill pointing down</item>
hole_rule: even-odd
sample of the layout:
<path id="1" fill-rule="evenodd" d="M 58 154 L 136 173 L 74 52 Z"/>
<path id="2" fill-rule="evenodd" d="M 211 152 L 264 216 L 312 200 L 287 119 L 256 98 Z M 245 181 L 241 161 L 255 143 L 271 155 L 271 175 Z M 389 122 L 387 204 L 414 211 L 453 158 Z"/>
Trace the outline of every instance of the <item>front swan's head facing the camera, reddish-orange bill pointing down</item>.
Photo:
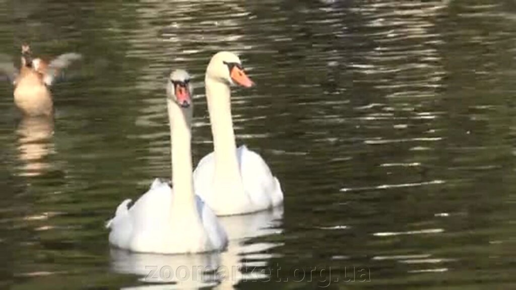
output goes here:
<path id="1" fill-rule="evenodd" d="M 185 70 L 174 70 L 167 80 L 167 98 L 182 108 L 191 106 L 193 88 L 190 84 L 190 75 Z"/>

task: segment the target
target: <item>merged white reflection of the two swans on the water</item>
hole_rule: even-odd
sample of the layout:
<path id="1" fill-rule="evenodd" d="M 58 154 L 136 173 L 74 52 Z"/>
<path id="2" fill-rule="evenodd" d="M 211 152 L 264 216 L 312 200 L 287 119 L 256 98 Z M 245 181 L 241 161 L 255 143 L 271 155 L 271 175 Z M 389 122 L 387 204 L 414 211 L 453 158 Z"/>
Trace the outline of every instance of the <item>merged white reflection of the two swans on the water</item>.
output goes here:
<path id="1" fill-rule="evenodd" d="M 282 217 L 283 207 L 251 215 L 219 217 L 229 238 L 227 250 L 221 253 L 162 255 L 113 248 L 110 250 L 111 269 L 140 276 L 140 281 L 149 283 L 134 288 L 170 289 L 174 284 L 178 288 L 217 286 L 217 289 L 232 289 L 241 280 L 264 278 L 260 277 L 261 273 L 242 273 L 240 269 L 266 265 L 266 259 L 271 255 L 264 251 L 278 244 L 247 242 L 255 237 L 281 233 Z M 258 260 L 261 262 L 256 262 Z"/>

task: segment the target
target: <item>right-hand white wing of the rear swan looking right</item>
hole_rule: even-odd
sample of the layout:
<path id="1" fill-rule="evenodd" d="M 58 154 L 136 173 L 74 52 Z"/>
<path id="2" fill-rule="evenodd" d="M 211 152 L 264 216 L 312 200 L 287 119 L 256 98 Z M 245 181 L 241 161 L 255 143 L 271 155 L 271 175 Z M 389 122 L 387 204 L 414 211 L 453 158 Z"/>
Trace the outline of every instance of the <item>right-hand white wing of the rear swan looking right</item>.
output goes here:
<path id="1" fill-rule="evenodd" d="M 283 191 L 278 179 L 258 153 L 245 145 L 237 149 L 244 189 L 256 206 L 269 208 L 283 203 Z"/>

